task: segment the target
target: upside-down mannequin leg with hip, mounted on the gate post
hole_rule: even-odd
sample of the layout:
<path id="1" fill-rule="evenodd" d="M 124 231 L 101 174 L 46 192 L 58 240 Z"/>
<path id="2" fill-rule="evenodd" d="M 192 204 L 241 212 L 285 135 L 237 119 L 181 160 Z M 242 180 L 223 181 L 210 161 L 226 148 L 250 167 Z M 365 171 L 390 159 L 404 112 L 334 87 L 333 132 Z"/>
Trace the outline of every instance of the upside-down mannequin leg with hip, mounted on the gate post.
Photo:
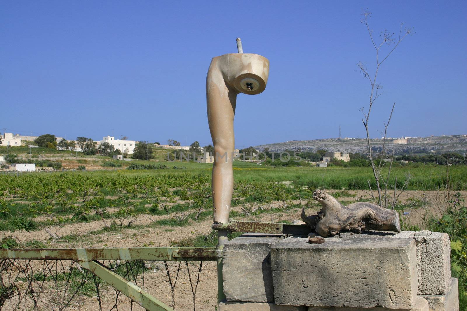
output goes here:
<path id="1" fill-rule="evenodd" d="M 233 117 L 237 94 L 259 94 L 266 88 L 269 61 L 257 54 L 214 57 L 206 77 L 209 130 L 214 145 L 212 200 L 214 222 L 226 223 L 233 194 Z"/>

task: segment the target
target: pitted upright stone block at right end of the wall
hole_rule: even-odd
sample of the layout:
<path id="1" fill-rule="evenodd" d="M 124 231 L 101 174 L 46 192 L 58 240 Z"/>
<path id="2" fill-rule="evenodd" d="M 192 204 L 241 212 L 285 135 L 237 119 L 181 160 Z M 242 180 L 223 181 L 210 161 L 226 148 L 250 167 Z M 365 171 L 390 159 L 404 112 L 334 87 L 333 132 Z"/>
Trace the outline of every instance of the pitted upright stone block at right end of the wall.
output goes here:
<path id="1" fill-rule="evenodd" d="M 418 295 L 444 295 L 451 283 L 451 243 L 446 233 L 404 231 L 417 245 Z"/>

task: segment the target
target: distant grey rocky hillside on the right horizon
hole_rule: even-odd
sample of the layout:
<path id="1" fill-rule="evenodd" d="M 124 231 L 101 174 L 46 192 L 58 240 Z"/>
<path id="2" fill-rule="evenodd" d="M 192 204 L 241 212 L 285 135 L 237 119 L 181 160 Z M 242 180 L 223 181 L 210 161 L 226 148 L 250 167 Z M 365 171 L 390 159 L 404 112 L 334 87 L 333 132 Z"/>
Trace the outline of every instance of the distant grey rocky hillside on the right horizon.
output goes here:
<path id="1" fill-rule="evenodd" d="M 382 147 L 382 139 L 371 139 L 373 150 Z M 324 149 L 329 152 L 360 152 L 367 148 L 364 138 L 326 138 L 315 140 L 290 140 L 283 143 L 255 146 L 257 150 L 269 148 L 269 151 L 280 152 L 289 150 L 310 150 L 316 152 Z M 425 152 L 467 152 L 467 135 L 431 136 L 416 138 L 389 138 L 386 140 L 387 150 L 394 149 L 396 154 L 425 153 Z"/>

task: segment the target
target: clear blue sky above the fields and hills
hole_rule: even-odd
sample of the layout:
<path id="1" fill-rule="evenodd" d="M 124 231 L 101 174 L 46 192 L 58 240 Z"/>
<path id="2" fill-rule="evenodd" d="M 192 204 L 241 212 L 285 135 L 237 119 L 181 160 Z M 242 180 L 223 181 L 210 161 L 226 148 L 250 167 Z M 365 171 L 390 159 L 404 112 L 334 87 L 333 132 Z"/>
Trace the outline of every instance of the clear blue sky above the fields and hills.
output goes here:
<path id="1" fill-rule="evenodd" d="M 364 137 L 374 70 L 371 27 L 415 29 L 382 64 L 371 136 L 467 133 L 466 1 L 3 1 L 0 131 L 75 139 L 127 136 L 211 143 L 205 76 L 211 58 L 270 61 L 266 90 L 240 94 L 237 147 Z"/>

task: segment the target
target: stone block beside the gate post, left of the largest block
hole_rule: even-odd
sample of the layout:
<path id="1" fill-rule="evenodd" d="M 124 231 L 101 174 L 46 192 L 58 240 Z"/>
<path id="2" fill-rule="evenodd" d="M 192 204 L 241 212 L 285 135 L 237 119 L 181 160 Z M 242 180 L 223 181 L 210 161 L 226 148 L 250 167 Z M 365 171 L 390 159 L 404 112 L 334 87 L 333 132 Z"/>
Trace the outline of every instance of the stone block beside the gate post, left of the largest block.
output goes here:
<path id="1" fill-rule="evenodd" d="M 274 301 L 269 253 L 271 244 L 280 239 L 256 233 L 225 243 L 222 273 L 228 301 Z"/>

